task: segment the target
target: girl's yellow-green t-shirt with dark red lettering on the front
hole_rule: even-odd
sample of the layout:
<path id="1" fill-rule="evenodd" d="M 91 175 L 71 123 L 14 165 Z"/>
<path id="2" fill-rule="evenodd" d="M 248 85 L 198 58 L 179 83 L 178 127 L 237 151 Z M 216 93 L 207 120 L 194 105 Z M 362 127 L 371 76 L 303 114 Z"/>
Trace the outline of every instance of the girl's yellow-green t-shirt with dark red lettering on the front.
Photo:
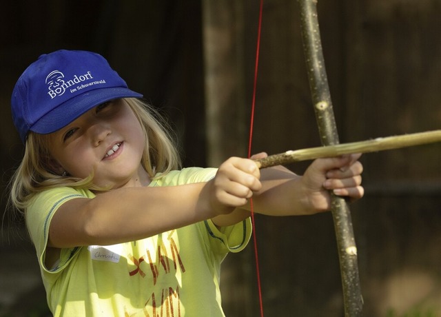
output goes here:
<path id="1" fill-rule="evenodd" d="M 215 173 L 192 167 L 170 172 L 150 186 L 208 181 Z M 57 265 L 45 267 L 52 216 L 78 197 L 94 194 L 71 187 L 47 190 L 26 213 L 54 316 L 224 316 L 220 263 L 228 252 L 247 245 L 249 218 L 220 230 L 207 220 L 139 241 L 62 249 Z"/>

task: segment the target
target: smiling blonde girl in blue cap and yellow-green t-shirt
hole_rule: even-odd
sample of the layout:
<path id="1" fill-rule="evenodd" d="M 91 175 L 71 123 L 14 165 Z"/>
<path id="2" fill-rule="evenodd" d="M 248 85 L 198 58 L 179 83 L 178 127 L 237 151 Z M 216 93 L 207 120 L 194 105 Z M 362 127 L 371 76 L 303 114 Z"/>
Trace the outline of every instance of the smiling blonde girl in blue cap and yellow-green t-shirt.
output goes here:
<path id="1" fill-rule="evenodd" d="M 329 190 L 363 195 L 358 155 L 316 160 L 304 176 L 236 157 L 180 169 L 140 97 L 84 51 L 42 55 L 15 85 L 25 154 L 11 201 L 54 316 L 224 316 L 220 263 L 249 241 L 249 198 L 255 212 L 289 216 L 328 210 Z"/>

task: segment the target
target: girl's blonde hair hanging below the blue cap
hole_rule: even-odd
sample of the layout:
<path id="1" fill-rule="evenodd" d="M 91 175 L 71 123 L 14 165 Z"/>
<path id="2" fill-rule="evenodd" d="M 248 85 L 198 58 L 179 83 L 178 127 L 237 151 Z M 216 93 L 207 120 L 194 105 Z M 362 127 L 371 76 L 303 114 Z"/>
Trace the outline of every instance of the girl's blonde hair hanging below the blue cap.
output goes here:
<path id="1" fill-rule="evenodd" d="M 124 100 L 134 112 L 143 129 L 147 143 L 141 158 L 141 165 L 150 178 L 155 178 L 157 173 L 161 173 L 163 176 L 171 170 L 181 168 L 175 138 L 172 137 L 170 125 L 167 124 L 163 116 L 151 105 L 139 99 L 126 98 Z M 81 179 L 60 176 L 53 172 L 50 167 L 48 141 L 47 134 L 33 132 L 28 134 L 23 160 L 10 182 L 9 205 L 20 212 L 25 212 L 35 194 L 50 188 L 70 186 L 105 190 L 92 183 L 93 175 Z"/>

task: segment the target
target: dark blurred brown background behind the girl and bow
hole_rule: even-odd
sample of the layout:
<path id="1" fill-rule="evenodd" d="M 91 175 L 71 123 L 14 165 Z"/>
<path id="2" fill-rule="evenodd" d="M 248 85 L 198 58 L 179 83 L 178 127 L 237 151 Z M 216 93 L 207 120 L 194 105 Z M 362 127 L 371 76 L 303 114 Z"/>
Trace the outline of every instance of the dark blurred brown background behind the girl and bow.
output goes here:
<path id="1" fill-rule="evenodd" d="M 39 54 L 103 54 L 169 116 L 186 166 L 247 154 L 258 1 L 6 1 L 0 9 L 2 208 L 23 147 L 10 93 Z M 253 152 L 320 145 L 298 3 L 265 0 Z M 341 142 L 437 130 L 441 1 L 318 1 Z M 441 147 L 362 156 L 365 198 L 351 205 L 365 316 L 441 316 Z M 307 163 L 290 166 L 301 174 Z M 265 316 L 343 316 L 330 214 L 256 216 Z M 0 316 L 45 316 L 37 258 L 3 216 Z M 253 245 L 223 269 L 227 316 L 258 316 Z"/>

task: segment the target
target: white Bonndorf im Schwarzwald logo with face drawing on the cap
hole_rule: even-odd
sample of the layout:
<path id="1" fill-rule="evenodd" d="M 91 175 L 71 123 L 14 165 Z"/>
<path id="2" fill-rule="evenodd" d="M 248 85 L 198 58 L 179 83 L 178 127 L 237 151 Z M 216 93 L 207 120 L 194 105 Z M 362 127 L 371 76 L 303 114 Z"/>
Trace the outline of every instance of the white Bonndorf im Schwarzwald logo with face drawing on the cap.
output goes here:
<path id="1" fill-rule="evenodd" d="M 48 94 L 51 99 L 54 99 L 56 96 L 61 96 L 65 93 L 68 88 L 72 87 L 75 84 L 81 83 L 83 81 L 87 81 L 89 79 L 93 79 L 92 73 L 88 71 L 87 73 L 83 75 L 74 75 L 72 79 L 65 80 L 65 76 L 62 72 L 59 70 L 54 70 L 53 72 L 50 72 L 48 76 L 46 76 L 46 85 L 48 85 Z M 101 81 L 94 81 L 92 83 L 88 83 L 86 85 L 78 85 L 74 88 L 70 88 L 70 92 L 76 92 L 77 90 L 81 90 L 83 88 L 86 88 L 90 85 L 95 85 L 97 83 L 105 83 L 105 81 L 102 79 Z"/>

